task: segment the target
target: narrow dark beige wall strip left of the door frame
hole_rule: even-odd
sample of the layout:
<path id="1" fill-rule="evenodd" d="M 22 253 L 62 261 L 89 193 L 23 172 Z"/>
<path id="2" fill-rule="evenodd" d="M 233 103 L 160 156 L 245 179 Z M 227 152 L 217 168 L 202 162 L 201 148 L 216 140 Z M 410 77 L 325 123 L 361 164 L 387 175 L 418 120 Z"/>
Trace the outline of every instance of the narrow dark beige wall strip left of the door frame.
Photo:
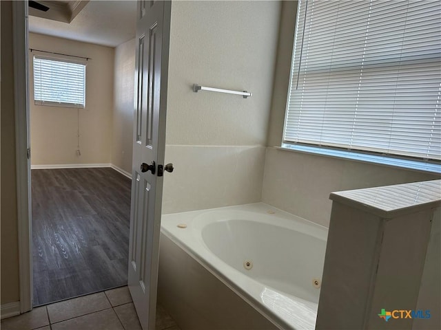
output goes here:
<path id="1" fill-rule="evenodd" d="M 12 5 L 1 1 L 1 304 L 20 300 Z"/>

